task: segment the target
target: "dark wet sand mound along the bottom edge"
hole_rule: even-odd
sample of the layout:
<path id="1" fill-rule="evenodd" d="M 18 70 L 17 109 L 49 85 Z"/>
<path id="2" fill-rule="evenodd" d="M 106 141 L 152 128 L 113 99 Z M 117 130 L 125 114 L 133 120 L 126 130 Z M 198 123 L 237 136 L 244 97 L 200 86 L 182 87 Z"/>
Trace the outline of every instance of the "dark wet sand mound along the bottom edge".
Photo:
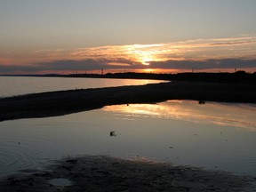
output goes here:
<path id="1" fill-rule="evenodd" d="M 68 179 L 71 183 L 52 183 L 52 179 Z M 84 156 L 63 159 L 44 171 L 24 170 L 23 173 L 8 176 L 1 180 L 0 191 L 236 192 L 256 191 L 255 181 L 252 177 L 189 166 Z"/>

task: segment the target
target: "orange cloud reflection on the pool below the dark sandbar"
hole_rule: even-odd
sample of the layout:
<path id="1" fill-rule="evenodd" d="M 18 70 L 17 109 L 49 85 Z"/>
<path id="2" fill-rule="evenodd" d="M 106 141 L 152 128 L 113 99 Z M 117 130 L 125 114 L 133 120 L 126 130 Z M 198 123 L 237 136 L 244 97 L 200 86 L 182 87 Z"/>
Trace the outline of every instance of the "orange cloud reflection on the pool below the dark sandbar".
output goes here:
<path id="1" fill-rule="evenodd" d="M 108 112 L 122 113 L 132 120 L 134 117 L 170 118 L 197 124 L 236 126 L 256 131 L 256 105 L 207 102 L 196 105 L 193 100 L 169 100 L 158 104 L 130 104 L 108 106 Z"/>

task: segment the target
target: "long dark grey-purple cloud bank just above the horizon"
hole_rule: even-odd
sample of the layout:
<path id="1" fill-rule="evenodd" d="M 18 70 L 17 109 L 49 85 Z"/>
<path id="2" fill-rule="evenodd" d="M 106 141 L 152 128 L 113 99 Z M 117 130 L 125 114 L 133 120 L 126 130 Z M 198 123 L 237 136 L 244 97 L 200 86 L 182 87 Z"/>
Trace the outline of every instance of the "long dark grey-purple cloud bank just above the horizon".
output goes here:
<path id="1" fill-rule="evenodd" d="M 114 63 L 114 64 L 113 64 Z M 41 62 L 34 66 L 6 66 L 0 65 L 0 72 L 15 73 L 40 71 L 72 71 L 72 70 L 100 70 L 103 69 L 141 69 L 141 68 L 163 68 L 163 69 L 212 69 L 212 68 L 256 68 L 256 60 L 166 60 L 151 61 L 149 66 L 142 65 L 132 60 L 55 60 Z"/>

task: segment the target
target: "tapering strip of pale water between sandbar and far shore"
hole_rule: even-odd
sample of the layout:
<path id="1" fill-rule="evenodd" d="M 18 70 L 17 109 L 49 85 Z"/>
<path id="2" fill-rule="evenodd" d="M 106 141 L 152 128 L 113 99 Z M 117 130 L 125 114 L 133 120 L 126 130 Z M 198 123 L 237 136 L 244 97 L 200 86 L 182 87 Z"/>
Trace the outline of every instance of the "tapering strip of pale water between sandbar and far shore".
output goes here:
<path id="1" fill-rule="evenodd" d="M 0 76 L 0 98 L 34 92 L 156 84 L 163 81 L 65 77 Z"/>

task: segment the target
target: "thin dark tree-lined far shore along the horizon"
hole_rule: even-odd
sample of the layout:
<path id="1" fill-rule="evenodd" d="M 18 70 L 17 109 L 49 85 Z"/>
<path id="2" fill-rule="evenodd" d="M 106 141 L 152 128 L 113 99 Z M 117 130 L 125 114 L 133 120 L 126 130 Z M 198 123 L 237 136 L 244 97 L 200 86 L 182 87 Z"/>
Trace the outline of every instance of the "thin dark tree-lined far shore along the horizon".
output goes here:
<path id="1" fill-rule="evenodd" d="M 188 82 L 212 82 L 229 84 L 255 84 L 256 72 L 246 73 L 245 71 L 236 71 L 235 73 L 219 72 L 184 72 L 177 74 L 156 74 L 156 73 L 107 73 L 107 74 L 44 74 L 44 75 L 0 75 L 0 76 L 34 76 L 34 77 L 65 77 L 65 78 L 116 78 L 116 79 L 151 79 L 166 81 L 188 81 Z"/>

